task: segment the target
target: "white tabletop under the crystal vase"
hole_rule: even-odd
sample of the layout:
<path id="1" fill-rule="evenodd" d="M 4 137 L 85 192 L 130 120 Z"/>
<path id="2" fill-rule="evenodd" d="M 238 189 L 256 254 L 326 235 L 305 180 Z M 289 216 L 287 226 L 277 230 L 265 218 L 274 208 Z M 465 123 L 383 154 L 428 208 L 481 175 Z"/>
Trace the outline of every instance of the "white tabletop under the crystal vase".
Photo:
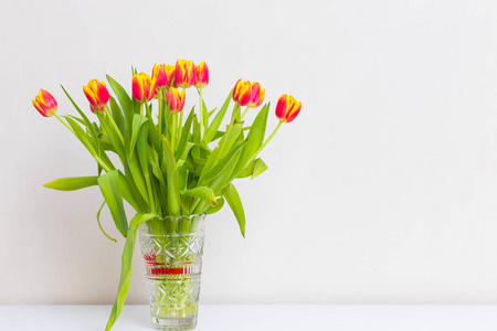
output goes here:
<path id="1" fill-rule="evenodd" d="M 104 330 L 110 306 L 0 306 L 0 330 Z M 125 306 L 114 331 L 152 330 Z M 497 306 L 201 306 L 197 331 L 497 330 Z"/>

